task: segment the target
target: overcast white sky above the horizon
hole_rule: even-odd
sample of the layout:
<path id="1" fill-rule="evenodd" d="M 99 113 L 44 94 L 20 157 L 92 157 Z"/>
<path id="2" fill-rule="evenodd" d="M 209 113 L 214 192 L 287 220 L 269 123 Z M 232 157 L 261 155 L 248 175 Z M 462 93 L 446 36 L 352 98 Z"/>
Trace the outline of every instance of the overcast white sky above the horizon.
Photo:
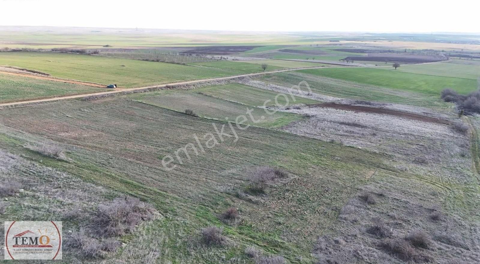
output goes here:
<path id="1" fill-rule="evenodd" d="M 0 25 L 480 32 L 479 0 L 0 0 Z"/>

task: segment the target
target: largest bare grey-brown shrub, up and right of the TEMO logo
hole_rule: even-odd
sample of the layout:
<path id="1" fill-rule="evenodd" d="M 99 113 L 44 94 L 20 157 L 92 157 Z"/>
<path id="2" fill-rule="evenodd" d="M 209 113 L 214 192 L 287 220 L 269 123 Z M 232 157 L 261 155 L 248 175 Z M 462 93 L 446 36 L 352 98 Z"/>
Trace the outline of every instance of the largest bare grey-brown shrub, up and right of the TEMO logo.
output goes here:
<path id="1" fill-rule="evenodd" d="M 92 234 L 100 237 L 120 236 L 132 232 L 144 220 L 152 220 L 156 210 L 138 198 L 115 198 L 100 205 L 92 218 Z"/>

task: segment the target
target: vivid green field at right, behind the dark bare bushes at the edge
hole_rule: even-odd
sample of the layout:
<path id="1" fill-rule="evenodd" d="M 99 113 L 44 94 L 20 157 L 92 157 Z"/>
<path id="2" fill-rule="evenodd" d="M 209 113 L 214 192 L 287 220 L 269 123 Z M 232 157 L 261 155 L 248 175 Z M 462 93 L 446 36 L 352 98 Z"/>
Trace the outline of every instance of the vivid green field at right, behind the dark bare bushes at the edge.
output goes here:
<path id="1" fill-rule="evenodd" d="M 477 89 L 477 80 L 415 74 L 394 69 L 324 68 L 304 69 L 300 72 L 412 92 L 439 94 L 445 88 L 452 88 L 465 94 Z"/>

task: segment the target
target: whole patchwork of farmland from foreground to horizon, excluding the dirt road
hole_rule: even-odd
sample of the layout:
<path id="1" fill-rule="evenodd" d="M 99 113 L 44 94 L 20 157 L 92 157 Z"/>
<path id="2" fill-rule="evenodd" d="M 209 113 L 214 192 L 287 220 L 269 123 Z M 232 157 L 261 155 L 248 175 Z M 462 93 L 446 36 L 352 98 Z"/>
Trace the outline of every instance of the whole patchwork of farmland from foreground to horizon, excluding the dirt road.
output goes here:
<path id="1" fill-rule="evenodd" d="M 0 47 L 70 48 L 0 52 L 51 75 L 0 72 L 0 103 L 52 99 L 0 107 L 0 218 L 62 221 L 64 263 L 480 259 L 480 63 L 338 61 L 474 36 L 9 30 Z"/>

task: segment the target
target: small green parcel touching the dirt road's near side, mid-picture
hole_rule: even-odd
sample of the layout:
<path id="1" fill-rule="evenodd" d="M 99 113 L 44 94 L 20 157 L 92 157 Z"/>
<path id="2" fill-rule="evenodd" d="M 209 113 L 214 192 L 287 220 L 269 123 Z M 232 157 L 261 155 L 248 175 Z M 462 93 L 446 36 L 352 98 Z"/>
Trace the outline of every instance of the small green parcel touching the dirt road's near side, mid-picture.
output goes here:
<path id="1" fill-rule="evenodd" d="M 288 95 L 288 101 L 283 96 L 277 96 L 278 93 L 263 89 L 254 88 L 240 83 L 229 83 L 219 86 L 204 87 L 195 90 L 213 97 L 224 100 L 242 103 L 250 106 L 274 106 L 277 105 L 294 105 L 294 104 L 314 104 L 317 101 L 303 97 L 294 96 L 295 101 Z M 276 101 L 275 101 L 276 97 Z M 265 101 L 270 100 L 265 103 Z"/>

